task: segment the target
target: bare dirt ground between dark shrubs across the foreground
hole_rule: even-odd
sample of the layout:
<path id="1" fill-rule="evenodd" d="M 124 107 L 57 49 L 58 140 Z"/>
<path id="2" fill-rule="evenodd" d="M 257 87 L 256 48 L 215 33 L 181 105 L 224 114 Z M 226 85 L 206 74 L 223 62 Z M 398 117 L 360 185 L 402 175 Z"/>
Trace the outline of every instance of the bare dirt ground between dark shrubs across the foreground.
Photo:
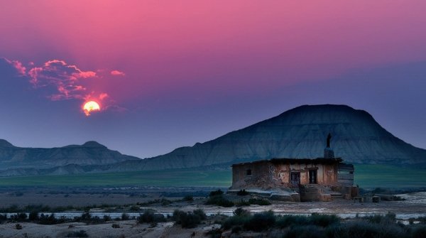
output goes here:
<path id="1" fill-rule="evenodd" d="M 199 189 L 199 188 L 197 188 Z M 104 190 L 101 190 L 104 191 Z M 173 191 L 173 190 L 172 190 Z M 199 190 L 197 190 L 199 191 Z M 97 204 L 131 204 L 135 202 L 146 202 L 155 198 L 164 198 L 163 195 L 177 195 L 169 191 L 146 192 L 146 193 L 40 193 L 40 191 L 26 190 L 23 195 L 16 191 L 2 191 L 0 202 L 3 207 L 7 205 L 44 204 L 54 207 L 55 205 L 92 205 Z M 180 191 L 182 192 L 182 191 Z M 47 195 L 47 196 L 45 196 Z M 272 205 L 251 205 L 244 207 L 251 212 L 262 212 L 273 210 L 276 214 L 336 214 L 342 218 L 351 218 L 358 215 L 386 214 L 393 212 L 399 220 L 408 220 L 410 217 L 426 216 L 426 192 L 408 193 L 399 195 L 405 200 L 382 201 L 378 203 L 359 203 L 353 200 L 335 200 L 333 202 L 273 202 Z M 177 200 L 178 197 L 168 197 Z M 180 197 L 181 198 L 181 197 Z M 236 207 L 217 207 L 204 205 L 204 200 L 172 202 L 168 205 L 153 204 L 143 205 L 138 211 L 146 209 L 155 210 L 156 213 L 171 214 L 174 210 L 192 211 L 202 209 L 209 215 L 204 224 L 193 229 L 182 229 L 180 225 L 173 222 L 161 222 L 156 227 L 150 225 L 139 225 L 136 220 L 107 222 L 101 225 L 86 225 L 84 223 L 66 223 L 60 225 L 37 225 L 35 223 L 20 222 L 22 229 L 16 229 L 16 223 L 4 223 L 0 225 L 0 237 L 67 237 L 70 232 L 84 230 L 88 237 L 206 237 L 209 230 L 219 228 L 214 224 L 214 215 L 232 215 Z M 113 228 L 112 224 L 119 225 Z"/>

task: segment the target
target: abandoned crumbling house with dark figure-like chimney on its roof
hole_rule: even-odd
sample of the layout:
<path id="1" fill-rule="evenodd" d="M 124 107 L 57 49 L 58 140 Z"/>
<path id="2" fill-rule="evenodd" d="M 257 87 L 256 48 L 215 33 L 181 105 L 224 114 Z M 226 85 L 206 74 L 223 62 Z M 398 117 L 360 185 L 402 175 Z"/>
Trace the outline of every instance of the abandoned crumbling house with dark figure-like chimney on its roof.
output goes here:
<path id="1" fill-rule="evenodd" d="M 331 135 L 322 158 L 271 158 L 232 165 L 229 192 L 246 190 L 289 201 L 330 201 L 351 199 L 358 194 L 354 187 L 354 166 L 334 158 Z"/>

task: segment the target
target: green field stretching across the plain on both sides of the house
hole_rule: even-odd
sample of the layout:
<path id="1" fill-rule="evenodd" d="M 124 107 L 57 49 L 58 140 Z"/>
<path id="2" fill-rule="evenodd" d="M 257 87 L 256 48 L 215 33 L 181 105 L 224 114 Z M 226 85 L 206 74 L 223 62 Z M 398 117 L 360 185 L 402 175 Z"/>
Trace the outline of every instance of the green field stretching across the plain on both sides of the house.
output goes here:
<path id="1" fill-rule="evenodd" d="M 80 175 L 39 175 L 0 178 L 0 186 L 231 186 L 231 171 L 176 169 L 87 173 Z M 426 187 L 425 167 L 355 165 L 355 185 L 361 188 Z"/>

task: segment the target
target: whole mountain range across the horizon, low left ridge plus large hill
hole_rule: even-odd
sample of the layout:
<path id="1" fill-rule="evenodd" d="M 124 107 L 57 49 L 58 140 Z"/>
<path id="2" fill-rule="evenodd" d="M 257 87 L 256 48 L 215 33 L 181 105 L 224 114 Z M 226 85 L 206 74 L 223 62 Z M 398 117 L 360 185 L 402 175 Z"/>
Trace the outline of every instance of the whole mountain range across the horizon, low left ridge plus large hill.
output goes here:
<path id="1" fill-rule="evenodd" d="M 0 175 L 229 169 L 232 163 L 269 158 L 317 158 L 322 156 L 329 133 L 335 155 L 347 163 L 426 163 L 425 149 L 393 136 L 368 112 L 322 104 L 296 107 L 212 141 L 143 160 L 110 151 L 95 141 L 62 148 L 18 148 L 0 140 L 0 168 L 4 169 Z"/>

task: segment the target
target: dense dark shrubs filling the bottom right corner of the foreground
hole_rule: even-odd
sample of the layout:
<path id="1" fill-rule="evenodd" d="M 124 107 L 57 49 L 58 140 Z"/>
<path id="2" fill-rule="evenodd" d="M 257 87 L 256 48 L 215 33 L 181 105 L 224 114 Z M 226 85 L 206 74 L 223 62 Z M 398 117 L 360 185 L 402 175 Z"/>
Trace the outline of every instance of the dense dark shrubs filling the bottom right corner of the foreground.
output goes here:
<path id="1" fill-rule="evenodd" d="M 335 215 L 312 213 L 302 215 L 274 215 L 272 211 L 251 215 L 241 207 L 234 211 L 233 217 L 222 222 L 222 230 L 239 234 L 242 231 L 280 234 L 279 237 L 348 237 L 348 238 L 410 238 L 425 237 L 426 225 L 403 225 L 395 220 L 395 214 L 358 217 L 342 222 Z M 277 232 L 279 231 L 279 232 Z"/>

